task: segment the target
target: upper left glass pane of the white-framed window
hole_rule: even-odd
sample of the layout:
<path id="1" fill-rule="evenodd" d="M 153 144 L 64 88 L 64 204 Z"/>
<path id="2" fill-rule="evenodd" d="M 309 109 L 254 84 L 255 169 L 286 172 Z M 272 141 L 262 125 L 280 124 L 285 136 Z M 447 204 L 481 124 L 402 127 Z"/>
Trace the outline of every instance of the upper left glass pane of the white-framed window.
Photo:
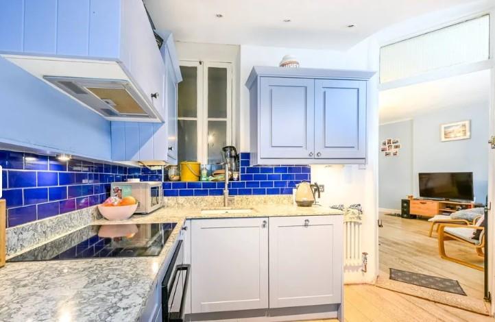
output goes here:
<path id="1" fill-rule="evenodd" d="M 178 88 L 179 117 L 196 117 L 197 110 L 197 67 L 180 66 L 182 82 Z"/>

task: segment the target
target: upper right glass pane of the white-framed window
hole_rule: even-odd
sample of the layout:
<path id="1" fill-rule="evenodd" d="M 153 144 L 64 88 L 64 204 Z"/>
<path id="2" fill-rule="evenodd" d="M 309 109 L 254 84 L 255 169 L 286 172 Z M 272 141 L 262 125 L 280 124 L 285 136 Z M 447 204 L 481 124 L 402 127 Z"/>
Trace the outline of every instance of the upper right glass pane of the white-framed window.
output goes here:
<path id="1" fill-rule="evenodd" d="M 227 69 L 208 68 L 208 117 L 227 117 Z"/>

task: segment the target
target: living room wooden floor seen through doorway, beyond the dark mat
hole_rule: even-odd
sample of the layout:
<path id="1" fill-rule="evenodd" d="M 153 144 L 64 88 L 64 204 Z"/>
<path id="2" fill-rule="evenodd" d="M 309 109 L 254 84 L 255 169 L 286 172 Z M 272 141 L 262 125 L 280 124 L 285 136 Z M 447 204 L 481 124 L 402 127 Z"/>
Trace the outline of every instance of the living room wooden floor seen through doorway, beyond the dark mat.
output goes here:
<path id="1" fill-rule="evenodd" d="M 383 220 L 383 227 L 378 230 L 381 278 L 389 278 L 390 267 L 450 278 L 459 281 L 468 297 L 483 299 L 483 272 L 440 258 L 436 234 L 428 236 L 428 221 L 382 213 L 380 219 Z M 446 252 L 483 265 L 483 258 L 459 241 L 446 242 Z"/>

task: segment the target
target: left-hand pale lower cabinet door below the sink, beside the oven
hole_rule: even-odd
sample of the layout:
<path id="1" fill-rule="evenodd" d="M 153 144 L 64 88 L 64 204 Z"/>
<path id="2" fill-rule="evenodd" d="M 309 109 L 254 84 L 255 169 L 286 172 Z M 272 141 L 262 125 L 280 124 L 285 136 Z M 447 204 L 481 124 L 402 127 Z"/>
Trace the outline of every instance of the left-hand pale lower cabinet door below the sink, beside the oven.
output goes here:
<path id="1" fill-rule="evenodd" d="M 268 308 L 266 218 L 191 221 L 192 312 Z"/>

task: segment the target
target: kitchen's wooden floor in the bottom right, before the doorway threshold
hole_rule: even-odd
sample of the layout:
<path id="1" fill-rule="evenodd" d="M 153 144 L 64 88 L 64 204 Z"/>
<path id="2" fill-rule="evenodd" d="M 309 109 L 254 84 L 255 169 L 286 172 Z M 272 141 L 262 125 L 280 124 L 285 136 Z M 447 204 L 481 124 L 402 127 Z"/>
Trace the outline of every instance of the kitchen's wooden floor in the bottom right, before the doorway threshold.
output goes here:
<path id="1" fill-rule="evenodd" d="M 494 321 L 493 318 L 480 314 L 435 304 L 426 299 L 419 299 L 372 285 L 345 286 L 344 301 L 344 319 L 347 322 Z M 318 322 L 323 321 L 336 320 L 319 320 Z"/>

